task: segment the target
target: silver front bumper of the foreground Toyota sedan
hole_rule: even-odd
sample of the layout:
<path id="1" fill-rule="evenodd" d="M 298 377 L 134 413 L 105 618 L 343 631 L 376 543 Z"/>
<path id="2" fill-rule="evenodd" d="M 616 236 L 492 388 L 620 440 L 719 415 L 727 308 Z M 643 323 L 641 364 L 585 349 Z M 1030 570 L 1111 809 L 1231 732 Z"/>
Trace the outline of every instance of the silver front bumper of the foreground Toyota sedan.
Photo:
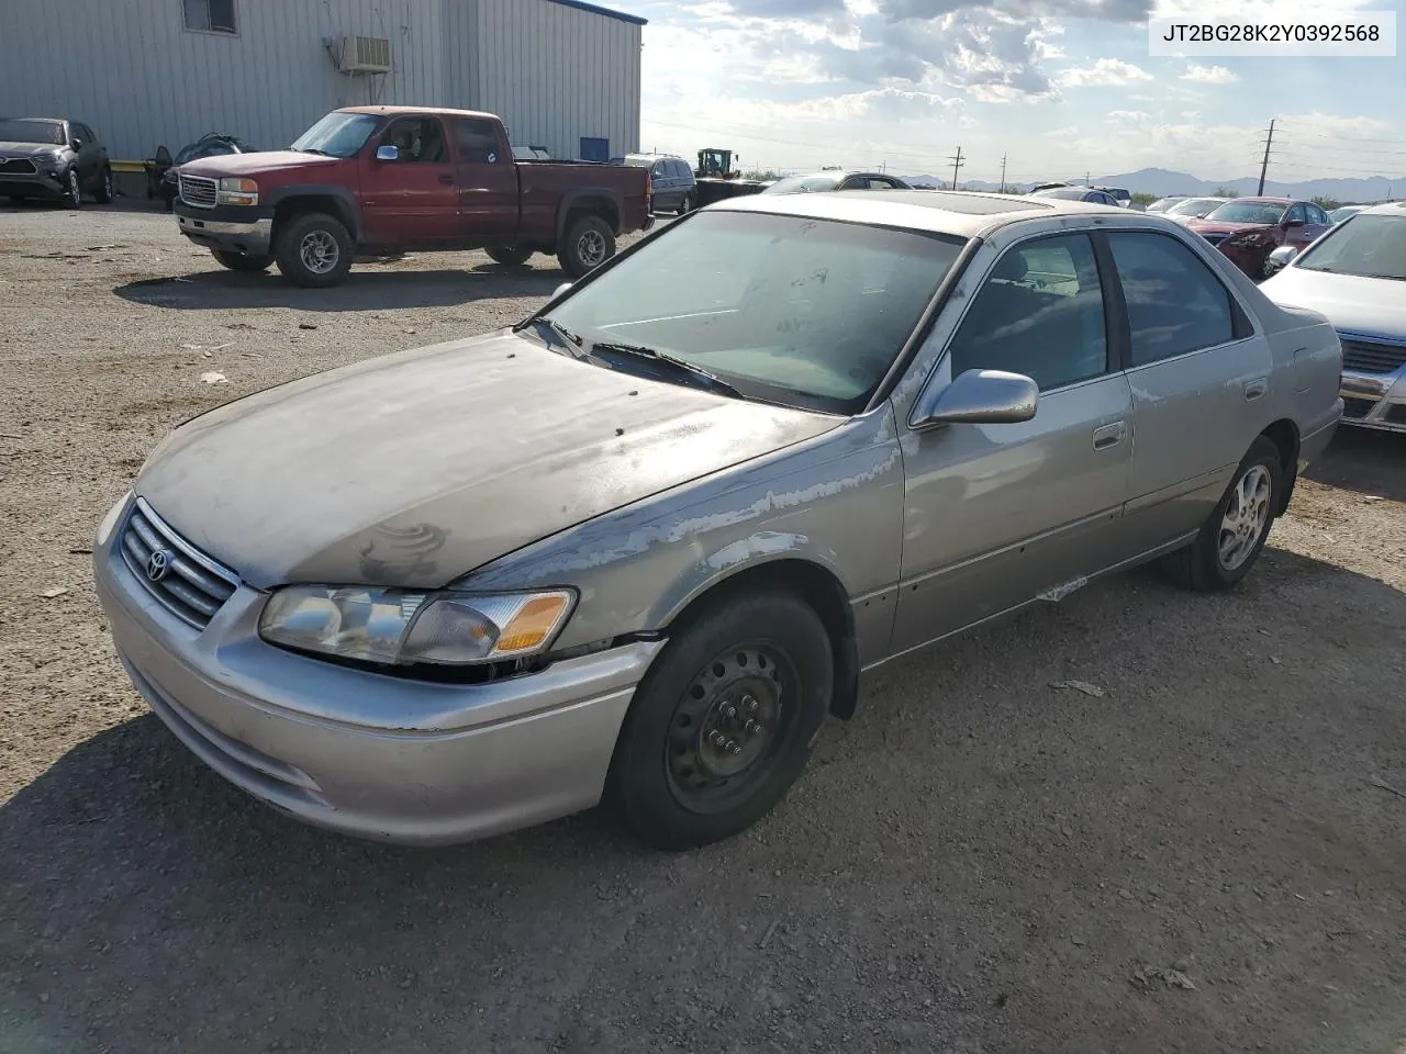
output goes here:
<path id="1" fill-rule="evenodd" d="M 598 804 L 643 641 L 477 686 L 405 680 L 260 639 L 264 593 L 239 586 L 204 630 L 122 559 L 128 503 L 93 547 L 98 600 L 138 691 L 211 769 L 316 826 L 444 845 Z"/>

